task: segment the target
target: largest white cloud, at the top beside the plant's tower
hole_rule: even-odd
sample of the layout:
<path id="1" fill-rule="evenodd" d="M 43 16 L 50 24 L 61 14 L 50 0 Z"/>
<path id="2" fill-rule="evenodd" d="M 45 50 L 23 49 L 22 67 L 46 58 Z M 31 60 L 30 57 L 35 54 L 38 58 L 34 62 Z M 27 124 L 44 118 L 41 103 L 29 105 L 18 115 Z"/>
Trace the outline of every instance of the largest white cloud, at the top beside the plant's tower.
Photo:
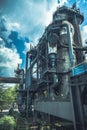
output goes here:
<path id="1" fill-rule="evenodd" d="M 62 5 L 66 0 L 61 1 Z M 41 37 L 45 27 L 52 21 L 52 14 L 58 6 L 57 0 L 18 0 L 14 10 L 5 12 L 8 30 L 17 30 L 30 39 Z"/>

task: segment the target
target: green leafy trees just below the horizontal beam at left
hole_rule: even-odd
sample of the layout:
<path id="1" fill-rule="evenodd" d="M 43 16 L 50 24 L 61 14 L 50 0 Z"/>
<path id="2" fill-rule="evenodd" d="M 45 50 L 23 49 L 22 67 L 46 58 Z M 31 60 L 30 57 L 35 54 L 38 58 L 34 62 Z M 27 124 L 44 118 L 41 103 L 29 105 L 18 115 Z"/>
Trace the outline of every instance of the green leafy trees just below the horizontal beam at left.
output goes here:
<path id="1" fill-rule="evenodd" d="M 9 109 L 10 106 L 17 102 L 18 85 L 8 87 L 7 89 L 0 88 L 0 110 Z"/>

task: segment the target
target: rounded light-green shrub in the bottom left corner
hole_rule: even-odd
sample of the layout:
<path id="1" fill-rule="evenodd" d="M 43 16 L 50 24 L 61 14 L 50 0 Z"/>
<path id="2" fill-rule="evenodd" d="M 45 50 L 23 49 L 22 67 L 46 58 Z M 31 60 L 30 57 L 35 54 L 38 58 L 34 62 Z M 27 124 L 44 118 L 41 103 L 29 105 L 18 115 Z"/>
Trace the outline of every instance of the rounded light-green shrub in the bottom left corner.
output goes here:
<path id="1" fill-rule="evenodd" d="M 4 116 L 0 119 L 0 130 L 14 130 L 16 122 L 12 116 Z"/>

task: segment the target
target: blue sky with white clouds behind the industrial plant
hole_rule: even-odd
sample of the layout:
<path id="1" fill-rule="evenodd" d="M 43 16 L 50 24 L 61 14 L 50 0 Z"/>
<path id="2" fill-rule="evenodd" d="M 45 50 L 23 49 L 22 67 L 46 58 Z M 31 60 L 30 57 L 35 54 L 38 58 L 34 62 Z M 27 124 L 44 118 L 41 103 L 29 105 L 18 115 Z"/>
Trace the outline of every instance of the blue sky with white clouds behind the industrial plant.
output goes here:
<path id="1" fill-rule="evenodd" d="M 36 45 L 46 26 L 52 21 L 57 6 L 77 7 L 84 14 L 81 25 L 83 43 L 87 39 L 87 0 L 2 0 L 0 3 L 0 76 L 14 76 L 20 63 L 25 66 L 25 54 L 30 43 Z M 4 31 L 3 31 L 4 30 Z"/>

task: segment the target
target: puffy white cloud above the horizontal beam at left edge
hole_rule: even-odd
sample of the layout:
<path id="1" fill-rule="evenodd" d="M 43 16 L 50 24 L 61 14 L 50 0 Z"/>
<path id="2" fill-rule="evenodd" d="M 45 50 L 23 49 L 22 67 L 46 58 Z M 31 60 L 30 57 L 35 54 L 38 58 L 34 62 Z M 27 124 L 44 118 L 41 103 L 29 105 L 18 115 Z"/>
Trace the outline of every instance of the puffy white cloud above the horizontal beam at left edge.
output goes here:
<path id="1" fill-rule="evenodd" d="M 0 47 L 0 76 L 14 76 L 14 70 L 17 64 L 21 63 L 16 49 L 10 49 L 4 46 Z"/>

